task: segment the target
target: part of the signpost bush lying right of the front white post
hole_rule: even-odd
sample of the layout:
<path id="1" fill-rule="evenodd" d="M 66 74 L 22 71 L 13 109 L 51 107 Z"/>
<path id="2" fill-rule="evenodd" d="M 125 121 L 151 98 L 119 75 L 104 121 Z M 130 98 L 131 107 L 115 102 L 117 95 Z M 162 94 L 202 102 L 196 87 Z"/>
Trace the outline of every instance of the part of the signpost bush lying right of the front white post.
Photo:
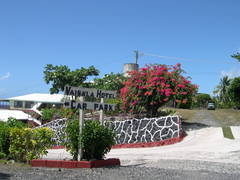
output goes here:
<path id="1" fill-rule="evenodd" d="M 103 159 L 115 144 L 115 134 L 99 121 L 86 121 L 80 141 L 83 159 Z"/>

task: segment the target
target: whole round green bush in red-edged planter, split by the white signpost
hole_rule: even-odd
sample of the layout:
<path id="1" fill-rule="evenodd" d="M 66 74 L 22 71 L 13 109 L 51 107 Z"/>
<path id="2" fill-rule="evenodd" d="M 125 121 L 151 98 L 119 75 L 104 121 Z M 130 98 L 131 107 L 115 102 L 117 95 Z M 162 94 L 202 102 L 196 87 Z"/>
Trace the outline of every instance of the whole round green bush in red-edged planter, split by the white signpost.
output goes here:
<path id="1" fill-rule="evenodd" d="M 64 145 L 77 160 L 79 143 L 82 146 L 83 159 L 103 159 L 115 144 L 115 134 L 108 127 L 100 125 L 99 121 L 85 121 L 83 132 L 79 137 L 78 120 L 71 120 L 65 129 Z"/>

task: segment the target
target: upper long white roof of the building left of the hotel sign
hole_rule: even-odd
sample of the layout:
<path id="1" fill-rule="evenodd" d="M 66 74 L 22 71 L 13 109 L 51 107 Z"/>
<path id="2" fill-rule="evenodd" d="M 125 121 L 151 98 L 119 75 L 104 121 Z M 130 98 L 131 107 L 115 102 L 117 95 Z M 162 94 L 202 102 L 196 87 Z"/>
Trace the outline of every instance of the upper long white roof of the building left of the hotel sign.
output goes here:
<path id="1" fill-rule="evenodd" d="M 17 100 L 17 101 L 34 101 L 34 102 L 45 102 L 45 103 L 60 103 L 63 94 L 27 94 L 23 96 L 16 96 L 8 98 L 8 100 Z"/>

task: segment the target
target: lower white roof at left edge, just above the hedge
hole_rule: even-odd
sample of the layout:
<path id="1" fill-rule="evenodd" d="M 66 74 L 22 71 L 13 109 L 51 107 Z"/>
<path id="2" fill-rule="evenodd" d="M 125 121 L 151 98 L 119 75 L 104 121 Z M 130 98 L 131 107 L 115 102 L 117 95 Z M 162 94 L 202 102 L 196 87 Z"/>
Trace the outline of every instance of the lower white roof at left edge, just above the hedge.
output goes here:
<path id="1" fill-rule="evenodd" d="M 6 122 L 10 117 L 16 118 L 17 120 L 26 120 L 29 119 L 30 115 L 18 110 L 0 109 L 0 121 Z"/>

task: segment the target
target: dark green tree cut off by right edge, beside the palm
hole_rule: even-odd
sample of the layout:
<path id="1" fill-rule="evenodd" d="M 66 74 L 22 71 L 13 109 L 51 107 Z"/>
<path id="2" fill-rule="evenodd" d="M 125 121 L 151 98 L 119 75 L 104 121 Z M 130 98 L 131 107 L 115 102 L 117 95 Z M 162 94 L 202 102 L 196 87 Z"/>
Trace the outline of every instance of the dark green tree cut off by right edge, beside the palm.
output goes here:
<path id="1" fill-rule="evenodd" d="M 234 106 L 240 108 L 240 77 L 236 77 L 232 80 L 228 88 L 228 94 Z"/>

